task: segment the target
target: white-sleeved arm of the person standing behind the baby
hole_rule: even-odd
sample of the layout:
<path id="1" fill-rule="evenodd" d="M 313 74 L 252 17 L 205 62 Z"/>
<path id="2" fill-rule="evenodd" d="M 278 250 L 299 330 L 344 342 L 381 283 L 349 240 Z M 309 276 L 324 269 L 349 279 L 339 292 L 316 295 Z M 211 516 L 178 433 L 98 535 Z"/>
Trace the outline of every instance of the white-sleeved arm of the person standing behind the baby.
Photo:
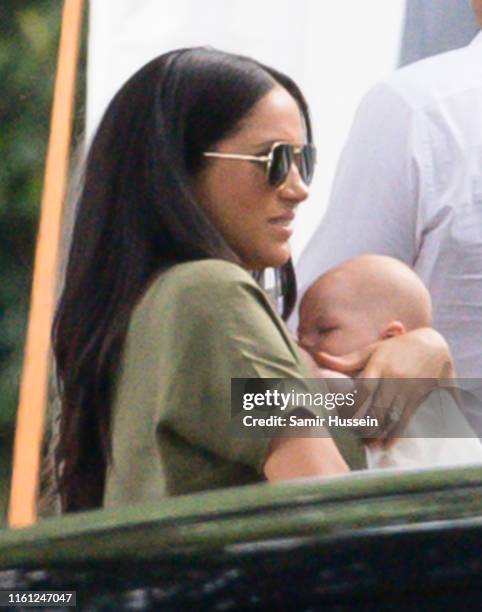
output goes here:
<path id="1" fill-rule="evenodd" d="M 297 265 L 300 296 L 324 271 L 363 253 L 413 265 L 419 248 L 417 116 L 389 85 L 361 103 L 342 152 L 328 211 Z"/>

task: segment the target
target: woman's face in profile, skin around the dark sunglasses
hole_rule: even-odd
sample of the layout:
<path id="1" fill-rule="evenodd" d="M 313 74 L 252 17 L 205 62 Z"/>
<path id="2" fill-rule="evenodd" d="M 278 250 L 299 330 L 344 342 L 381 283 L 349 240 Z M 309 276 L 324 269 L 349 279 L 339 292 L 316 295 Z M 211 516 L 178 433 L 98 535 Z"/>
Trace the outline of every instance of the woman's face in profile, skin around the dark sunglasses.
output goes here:
<path id="1" fill-rule="evenodd" d="M 242 121 L 237 133 L 211 150 L 265 155 L 275 142 L 300 145 L 305 141 L 297 103 L 284 88 L 275 86 Z M 268 184 L 262 163 L 209 158 L 194 180 L 194 191 L 211 223 L 248 269 L 288 261 L 296 210 L 308 196 L 296 164 L 285 183 L 274 188 Z"/>

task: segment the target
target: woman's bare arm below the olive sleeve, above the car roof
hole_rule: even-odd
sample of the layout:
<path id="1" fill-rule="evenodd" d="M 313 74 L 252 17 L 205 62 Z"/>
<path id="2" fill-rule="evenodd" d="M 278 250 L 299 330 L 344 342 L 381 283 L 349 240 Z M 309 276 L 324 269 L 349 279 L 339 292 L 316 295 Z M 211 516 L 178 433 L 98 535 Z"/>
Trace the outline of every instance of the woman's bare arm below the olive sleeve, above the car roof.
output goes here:
<path id="1" fill-rule="evenodd" d="M 274 438 L 264 464 L 270 482 L 349 471 L 332 438 Z"/>

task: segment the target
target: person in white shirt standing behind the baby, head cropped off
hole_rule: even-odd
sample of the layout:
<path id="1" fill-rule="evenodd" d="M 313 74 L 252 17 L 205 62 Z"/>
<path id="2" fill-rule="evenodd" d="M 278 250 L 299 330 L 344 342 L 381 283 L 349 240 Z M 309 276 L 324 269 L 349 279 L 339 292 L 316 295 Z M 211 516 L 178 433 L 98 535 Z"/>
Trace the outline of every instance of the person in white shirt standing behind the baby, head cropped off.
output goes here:
<path id="1" fill-rule="evenodd" d="M 482 0 L 472 5 L 482 26 Z M 482 32 L 467 47 L 397 70 L 362 101 L 327 214 L 297 267 L 300 296 L 363 253 L 415 269 L 458 376 L 480 389 Z M 482 436 L 482 407 L 467 417 Z"/>

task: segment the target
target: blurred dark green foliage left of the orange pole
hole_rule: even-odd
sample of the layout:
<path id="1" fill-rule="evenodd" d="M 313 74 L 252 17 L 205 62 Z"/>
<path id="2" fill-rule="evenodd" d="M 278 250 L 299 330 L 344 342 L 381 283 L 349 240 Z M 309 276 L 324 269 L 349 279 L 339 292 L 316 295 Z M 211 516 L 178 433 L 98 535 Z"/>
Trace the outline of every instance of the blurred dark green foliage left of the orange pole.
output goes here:
<path id="1" fill-rule="evenodd" d="M 0 436 L 18 401 L 62 4 L 0 5 Z"/>

